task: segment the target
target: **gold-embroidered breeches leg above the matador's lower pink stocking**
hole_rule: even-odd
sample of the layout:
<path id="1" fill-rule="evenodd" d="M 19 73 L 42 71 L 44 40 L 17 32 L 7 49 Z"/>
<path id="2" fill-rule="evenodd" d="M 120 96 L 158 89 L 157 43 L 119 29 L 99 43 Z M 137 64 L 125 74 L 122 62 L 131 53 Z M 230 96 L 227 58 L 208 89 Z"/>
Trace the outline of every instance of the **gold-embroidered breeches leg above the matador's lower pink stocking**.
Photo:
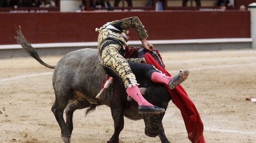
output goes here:
<path id="1" fill-rule="evenodd" d="M 101 64 L 110 68 L 119 75 L 123 80 L 124 86 L 127 88 L 137 84 L 137 81 L 126 59 L 117 52 L 120 48 L 120 45 L 116 44 L 104 47 L 104 50 L 102 51 Z"/>

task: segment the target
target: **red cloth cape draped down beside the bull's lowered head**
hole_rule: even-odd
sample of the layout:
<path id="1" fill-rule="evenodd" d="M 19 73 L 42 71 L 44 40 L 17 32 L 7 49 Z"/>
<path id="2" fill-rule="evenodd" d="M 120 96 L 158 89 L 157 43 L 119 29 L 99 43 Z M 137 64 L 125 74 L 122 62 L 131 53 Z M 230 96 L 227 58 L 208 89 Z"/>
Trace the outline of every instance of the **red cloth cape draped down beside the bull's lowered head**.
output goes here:
<path id="1" fill-rule="evenodd" d="M 154 65 L 158 70 L 161 70 L 167 76 L 171 76 L 163 67 L 156 62 L 156 60 L 149 54 L 145 54 L 147 63 Z M 178 85 L 174 89 L 169 89 L 168 85 L 165 85 L 168 89 L 173 103 L 180 109 L 181 115 L 185 122 L 188 138 L 192 143 L 205 143 L 204 140 L 204 125 L 201 121 L 200 115 L 195 107 L 194 103 L 188 98 L 186 91 L 181 85 Z"/>

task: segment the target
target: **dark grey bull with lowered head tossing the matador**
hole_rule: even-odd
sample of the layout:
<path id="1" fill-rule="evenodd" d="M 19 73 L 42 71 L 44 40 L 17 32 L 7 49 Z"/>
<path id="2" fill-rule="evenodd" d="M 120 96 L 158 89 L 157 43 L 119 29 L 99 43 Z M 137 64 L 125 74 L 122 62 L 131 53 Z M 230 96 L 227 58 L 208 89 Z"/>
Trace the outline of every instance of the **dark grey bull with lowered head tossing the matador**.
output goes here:
<path id="1" fill-rule="evenodd" d="M 110 143 L 119 142 L 119 134 L 124 127 L 123 116 L 131 120 L 143 119 L 147 136 L 159 136 L 162 143 L 169 143 L 162 124 L 165 113 L 138 113 L 137 103 L 127 100 L 127 94 L 121 80 L 114 79 L 109 89 L 105 90 L 99 99 L 95 98 L 107 77 L 97 56 L 97 49 L 80 49 L 70 52 L 63 56 L 56 66 L 50 66 L 40 59 L 36 50 L 26 41 L 21 29 L 17 33 L 19 34 L 19 37 L 15 37 L 17 42 L 30 56 L 48 68 L 55 68 L 52 77 L 55 91 L 55 103 L 52 105 L 52 112 L 59 123 L 61 137 L 65 143 L 71 142 L 73 112 L 77 109 L 88 108 L 86 110 L 86 114 L 88 114 L 95 110 L 97 105 L 107 105 L 111 108 L 114 134 L 109 140 Z M 140 50 L 136 54 L 133 56 L 144 55 L 144 52 Z M 156 56 L 154 52 L 150 52 L 150 54 Z M 143 76 L 137 77 L 137 82 L 140 83 L 139 87 L 144 87 L 144 97 L 147 101 L 166 110 L 171 96 L 164 84 L 154 83 Z M 64 110 L 66 122 L 63 118 Z"/>

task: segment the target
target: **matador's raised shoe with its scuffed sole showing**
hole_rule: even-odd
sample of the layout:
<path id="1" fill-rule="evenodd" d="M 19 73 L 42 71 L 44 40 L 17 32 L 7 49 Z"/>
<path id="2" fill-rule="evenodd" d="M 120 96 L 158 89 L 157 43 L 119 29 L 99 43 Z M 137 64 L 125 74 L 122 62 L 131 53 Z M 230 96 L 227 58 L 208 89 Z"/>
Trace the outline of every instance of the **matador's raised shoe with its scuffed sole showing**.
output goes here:
<path id="1" fill-rule="evenodd" d="M 180 72 L 178 75 L 175 75 L 171 81 L 169 82 L 168 86 L 170 89 L 174 89 L 175 87 L 177 87 L 181 82 L 184 82 L 188 75 L 189 75 L 189 71 L 188 70 L 184 70 L 182 72 Z"/>

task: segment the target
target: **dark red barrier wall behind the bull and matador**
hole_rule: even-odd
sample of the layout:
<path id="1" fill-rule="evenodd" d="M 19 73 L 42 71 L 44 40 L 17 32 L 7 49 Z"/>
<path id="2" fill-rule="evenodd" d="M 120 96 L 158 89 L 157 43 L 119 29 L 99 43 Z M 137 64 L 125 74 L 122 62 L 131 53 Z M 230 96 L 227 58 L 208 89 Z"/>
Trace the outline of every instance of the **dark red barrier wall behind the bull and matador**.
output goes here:
<path id="1" fill-rule="evenodd" d="M 148 40 L 250 38 L 250 12 L 85 12 L 0 14 L 0 45 L 17 44 L 15 26 L 21 26 L 30 43 L 96 42 L 97 32 L 108 21 L 138 16 Z M 139 40 L 129 30 L 130 40 Z"/>

